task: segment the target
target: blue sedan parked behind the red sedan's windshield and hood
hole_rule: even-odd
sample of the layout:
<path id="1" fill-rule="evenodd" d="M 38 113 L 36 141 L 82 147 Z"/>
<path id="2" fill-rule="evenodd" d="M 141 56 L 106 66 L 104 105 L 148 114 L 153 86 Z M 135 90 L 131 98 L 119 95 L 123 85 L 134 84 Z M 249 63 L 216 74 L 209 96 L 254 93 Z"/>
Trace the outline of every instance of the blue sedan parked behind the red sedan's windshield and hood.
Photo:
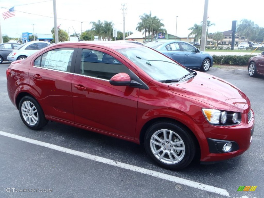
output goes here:
<path id="1" fill-rule="evenodd" d="M 184 41 L 161 40 L 144 44 L 176 60 L 181 65 L 206 72 L 213 66 L 213 57 Z"/>

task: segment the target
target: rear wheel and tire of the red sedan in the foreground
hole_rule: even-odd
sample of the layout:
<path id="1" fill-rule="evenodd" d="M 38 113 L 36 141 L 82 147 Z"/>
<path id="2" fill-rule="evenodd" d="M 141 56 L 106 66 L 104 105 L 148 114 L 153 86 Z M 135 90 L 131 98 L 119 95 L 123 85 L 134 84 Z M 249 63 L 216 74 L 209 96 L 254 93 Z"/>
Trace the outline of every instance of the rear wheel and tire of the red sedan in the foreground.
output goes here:
<path id="1" fill-rule="evenodd" d="M 24 96 L 20 100 L 19 115 L 24 124 L 33 130 L 41 129 L 48 123 L 39 103 L 31 96 Z"/>

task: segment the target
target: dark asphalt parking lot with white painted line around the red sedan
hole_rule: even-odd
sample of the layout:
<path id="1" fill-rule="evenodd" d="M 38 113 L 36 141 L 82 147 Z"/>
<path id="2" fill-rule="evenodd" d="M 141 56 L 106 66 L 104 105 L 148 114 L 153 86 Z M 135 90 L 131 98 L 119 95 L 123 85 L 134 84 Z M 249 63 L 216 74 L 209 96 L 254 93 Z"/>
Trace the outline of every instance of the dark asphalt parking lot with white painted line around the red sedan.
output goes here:
<path id="1" fill-rule="evenodd" d="M 28 129 L 7 95 L 8 65 L 0 65 L 0 197 L 264 197 L 263 77 L 210 68 L 209 74 L 249 97 L 255 113 L 251 147 L 221 163 L 170 171 L 134 143 L 57 122 Z M 239 186 L 257 187 L 237 191 Z"/>

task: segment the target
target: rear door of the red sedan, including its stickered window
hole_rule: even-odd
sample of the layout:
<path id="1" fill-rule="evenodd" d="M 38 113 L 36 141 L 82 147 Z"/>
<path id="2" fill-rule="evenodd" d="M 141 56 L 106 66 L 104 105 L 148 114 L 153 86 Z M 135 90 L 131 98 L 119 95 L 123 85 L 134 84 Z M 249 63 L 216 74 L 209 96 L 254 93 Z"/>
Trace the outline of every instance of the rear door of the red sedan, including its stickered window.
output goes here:
<path id="1" fill-rule="evenodd" d="M 74 122 L 72 79 L 78 47 L 60 46 L 34 59 L 29 70 L 32 90 L 48 117 Z"/>

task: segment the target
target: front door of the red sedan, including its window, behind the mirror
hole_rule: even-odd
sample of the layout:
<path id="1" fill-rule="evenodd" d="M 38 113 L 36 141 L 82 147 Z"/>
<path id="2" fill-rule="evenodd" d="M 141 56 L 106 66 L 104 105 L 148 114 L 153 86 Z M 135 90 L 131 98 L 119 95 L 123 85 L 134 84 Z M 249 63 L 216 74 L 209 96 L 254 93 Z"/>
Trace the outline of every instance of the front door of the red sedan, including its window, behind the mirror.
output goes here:
<path id="1" fill-rule="evenodd" d="M 139 88 L 109 83 L 115 74 L 129 73 L 128 67 L 110 51 L 80 46 L 72 81 L 76 124 L 134 138 Z"/>

